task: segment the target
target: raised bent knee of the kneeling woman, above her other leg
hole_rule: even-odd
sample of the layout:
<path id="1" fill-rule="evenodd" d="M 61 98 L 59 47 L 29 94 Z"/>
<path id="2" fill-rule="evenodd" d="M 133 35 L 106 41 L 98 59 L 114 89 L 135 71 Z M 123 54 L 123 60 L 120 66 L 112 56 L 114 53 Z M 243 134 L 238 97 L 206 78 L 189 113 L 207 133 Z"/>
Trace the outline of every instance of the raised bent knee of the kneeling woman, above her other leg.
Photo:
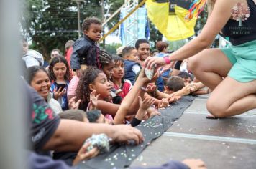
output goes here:
<path id="1" fill-rule="evenodd" d="M 211 90 L 223 80 L 222 77 L 227 77 L 231 67 L 232 63 L 220 49 L 205 49 L 188 61 L 188 69 Z"/>

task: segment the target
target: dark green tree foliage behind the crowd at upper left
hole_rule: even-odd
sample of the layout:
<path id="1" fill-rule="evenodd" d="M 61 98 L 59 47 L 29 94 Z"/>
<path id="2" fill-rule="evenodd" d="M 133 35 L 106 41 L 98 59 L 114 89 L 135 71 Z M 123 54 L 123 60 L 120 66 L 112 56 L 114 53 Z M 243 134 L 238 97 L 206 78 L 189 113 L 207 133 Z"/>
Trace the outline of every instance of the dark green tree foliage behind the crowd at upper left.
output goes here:
<path id="1" fill-rule="evenodd" d="M 122 6 L 122 0 L 104 1 L 106 7 L 112 3 L 110 13 Z M 102 19 L 101 1 L 84 0 L 80 3 L 80 14 L 83 19 L 96 16 Z M 116 18 L 118 21 L 118 19 Z M 114 25 L 113 20 L 110 24 Z M 22 35 L 32 40 L 30 48 L 37 49 L 46 59 L 50 58 L 50 51 L 58 48 L 65 52 L 65 42 L 78 38 L 78 7 L 70 0 L 25 0 L 24 12 L 20 19 Z M 111 26 L 110 25 L 110 26 Z"/>

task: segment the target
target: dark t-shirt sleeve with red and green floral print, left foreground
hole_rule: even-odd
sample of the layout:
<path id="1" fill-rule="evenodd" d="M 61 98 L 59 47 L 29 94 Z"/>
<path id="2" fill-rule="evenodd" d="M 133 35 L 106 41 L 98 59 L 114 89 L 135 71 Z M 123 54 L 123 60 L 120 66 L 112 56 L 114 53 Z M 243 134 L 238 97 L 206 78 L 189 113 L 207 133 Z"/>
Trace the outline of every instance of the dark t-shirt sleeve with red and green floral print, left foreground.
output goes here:
<path id="1" fill-rule="evenodd" d="M 55 114 L 43 99 L 28 84 L 25 89 L 29 95 L 29 137 L 31 138 L 32 149 L 42 153 L 42 148 L 50 140 L 60 123 L 60 117 Z M 32 110 L 32 111 L 31 111 Z"/>

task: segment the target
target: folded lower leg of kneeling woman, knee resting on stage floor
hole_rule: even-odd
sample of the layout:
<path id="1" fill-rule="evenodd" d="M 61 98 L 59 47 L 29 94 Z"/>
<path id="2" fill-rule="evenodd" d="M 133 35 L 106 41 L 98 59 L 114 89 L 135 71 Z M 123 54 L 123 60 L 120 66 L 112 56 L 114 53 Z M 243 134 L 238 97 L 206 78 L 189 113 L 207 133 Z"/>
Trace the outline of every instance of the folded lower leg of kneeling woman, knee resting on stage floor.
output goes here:
<path id="1" fill-rule="evenodd" d="M 226 77 L 211 93 L 207 109 L 216 117 L 239 115 L 256 108 L 256 80 L 237 82 Z"/>

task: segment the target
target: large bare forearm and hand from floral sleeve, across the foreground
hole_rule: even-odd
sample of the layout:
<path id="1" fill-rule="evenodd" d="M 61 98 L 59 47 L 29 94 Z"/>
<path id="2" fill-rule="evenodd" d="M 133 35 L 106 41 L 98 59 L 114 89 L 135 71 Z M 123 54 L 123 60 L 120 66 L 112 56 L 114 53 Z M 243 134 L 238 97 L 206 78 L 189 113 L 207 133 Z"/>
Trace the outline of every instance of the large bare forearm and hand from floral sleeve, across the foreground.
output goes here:
<path id="1" fill-rule="evenodd" d="M 111 137 L 114 142 L 135 140 L 139 144 L 143 140 L 140 130 L 128 125 L 91 124 L 75 120 L 60 120 L 57 130 L 43 146 L 43 150 L 78 151 L 84 140 L 93 134 L 101 133 Z"/>

